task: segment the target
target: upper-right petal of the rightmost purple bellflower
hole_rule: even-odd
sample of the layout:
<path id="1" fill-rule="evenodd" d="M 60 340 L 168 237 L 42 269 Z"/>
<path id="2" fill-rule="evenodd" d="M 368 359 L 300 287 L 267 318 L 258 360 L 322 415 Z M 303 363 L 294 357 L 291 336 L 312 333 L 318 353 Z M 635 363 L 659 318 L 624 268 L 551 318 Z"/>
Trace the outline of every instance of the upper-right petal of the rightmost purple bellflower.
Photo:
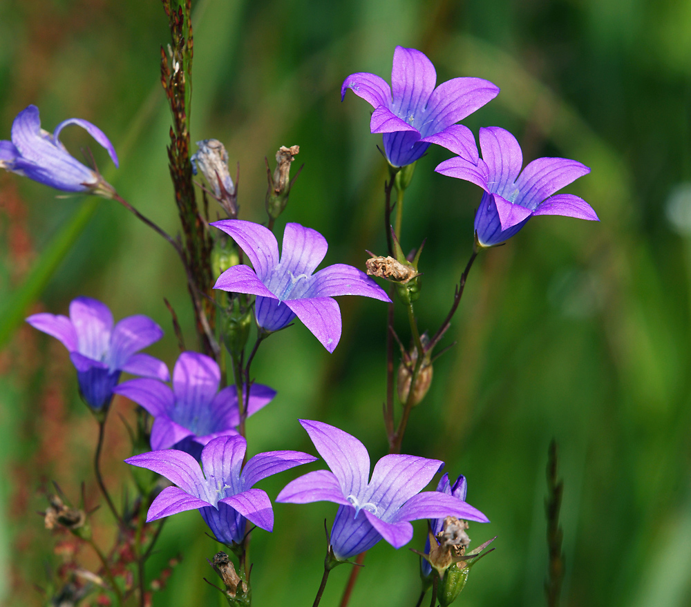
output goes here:
<path id="1" fill-rule="evenodd" d="M 520 193 L 515 202 L 534 210 L 545 198 L 588 173 L 590 169 L 576 160 L 538 158 L 526 166 L 516 180 Z"/>

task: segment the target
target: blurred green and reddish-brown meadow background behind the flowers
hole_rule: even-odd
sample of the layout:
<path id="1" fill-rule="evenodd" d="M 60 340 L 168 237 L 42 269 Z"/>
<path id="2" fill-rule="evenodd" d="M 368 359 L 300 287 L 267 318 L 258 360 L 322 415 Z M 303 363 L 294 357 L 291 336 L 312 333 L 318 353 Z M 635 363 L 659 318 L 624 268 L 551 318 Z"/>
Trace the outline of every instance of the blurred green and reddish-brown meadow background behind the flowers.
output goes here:
<path id="1" fill-rule="evenodd" d="M 243 218 L 263 221 L 265 169 L 281 145 L 305 164 L 285 221 L 319 230 L 326 263 L 363 267 L 384 251 L 384 162 L 370 135 L 370 106 L 339 88 L 350 73 L 389 79 L 395 45 L 426 52 L 438 82 L 460 75 L 502 92 L 465 124 L 508 128 L 526 161 L 575 158 L 592 172 L 567 188 L 599 224 L 537 218 L 506 246 L 483 253 L 435 365 L 426 401 L 411 418 L 404 452 L 447 462 L 468 478 L 468 501 L 491 519 L 472 525 L 477 546 L 498 535 L 458 604 L 544 604 L 547 446 L 560 447 L 569 606 L 685 606 L 691 601 L 691 3 L 683 0 L 200 0 L 195 3 L 192 140 L 216 137 L 240 163 Z M 176 210 L 167 170 L 170 116 L 159 84 L 169 41 L 156 0 L 0 1 L 0 138 L 30 103 L 52 131 L 81 117 L 108 134 L 121 164 L 77 128 L 132 204 L 169 231 Z M 433 168 L 433 146 L 406 197 L 404 248 L 422 256 L 422 328 L 434 331 L 471 251 L 480 191 Z M 231 170 L 231 173 L 233 171 Z M 86 201 L 86 202 L 85 202 Z M 75 220 L 75 217 L 77 218 Z M 88 221 L 87 221 L 88 220 Z M 149 314 L 167 331 L 149 349 L 172 365 L 176 340 L 162 298 L 191 326 L 184 277 L 162 239 L 114 202 L 55 197 L 0 175 L 0 309 L 31 268 L 50 273 L 55 239 L 78 234 L 30 311 L 66 314 L 79 294 L 104 300 L 115 318 Z M 71 228 L 70 228 L 71 227 Z M 312 451 L 297 418 L 339 425 L 375 461 L 386 453 L 381 303 L 341 298 L 343 338 L 329 355 L 301 325 L 273 336 L 253 374 L 274 403 L 249 421 L 251 452 Z M 408 339 L 405 318 L 397 327 Z M 189 335 L 189 343 L 193 338 Z M 76 497 L 86 480 L 95 423 L 79 402 L 66 351 L 20 327 L 0 353 L 0 597 L 41 604 L 61 557 L 42 528 L 41 494 L 55 479 Z M 131 416 L 116 401 L 115 412 Z M 108 435 L 109 483 L 126 482 L 122 423 Z M 319 465 L 312 465 L 316 469 Z M 305 468 L 304 471 L 307 469 Z M 273 498 L 296 472 L 267 479 Z M 431 488 L 431 487 L 430 487 Z M 311 604 L 324 551 L 323 519 L 335 506 L 276 505 L 273 534 L 254 533 L 254 600 Z M 97 512 L 107 522 L 104 510 Z M 216 543 L 196 512 L 173 517 L 150 561 L 158 577 L 181 555 L 155 606 L 216 605 L 202 577 Z M 97 539 L 107 542 L 108 530 Z M 422 549 L 417 523 L 410 547 Z M 83 555 L 86 562 L 93 555 Z M 347 566 L 334 570 L 322 604 L 338 604 Z M 417 557 L 379 543 L 351 604 L 413 606 Z"/>

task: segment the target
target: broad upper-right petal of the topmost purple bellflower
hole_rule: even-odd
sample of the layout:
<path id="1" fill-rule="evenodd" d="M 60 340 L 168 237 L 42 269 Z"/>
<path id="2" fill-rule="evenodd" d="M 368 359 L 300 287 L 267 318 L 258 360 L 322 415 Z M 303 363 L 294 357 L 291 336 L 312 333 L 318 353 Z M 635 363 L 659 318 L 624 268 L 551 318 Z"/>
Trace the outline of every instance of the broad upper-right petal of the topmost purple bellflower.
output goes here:
<path id="1" fill-rule="evenodd" d="M 431 135 L 471 115 L 499 94 L 499 87 L 482 78 L 453 78 L 442 82 L 425 108 L 426 125 L 420 130 Z"/>

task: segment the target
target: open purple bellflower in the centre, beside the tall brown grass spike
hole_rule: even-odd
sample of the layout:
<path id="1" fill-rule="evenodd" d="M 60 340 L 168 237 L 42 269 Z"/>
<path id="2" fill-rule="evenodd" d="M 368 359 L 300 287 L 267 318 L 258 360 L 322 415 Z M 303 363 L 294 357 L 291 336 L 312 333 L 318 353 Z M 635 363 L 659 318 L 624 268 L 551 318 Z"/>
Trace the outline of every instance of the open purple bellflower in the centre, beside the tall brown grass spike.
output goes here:
<path id="1" fill-rule="evenodd" d="M 296 316 L 328 349 L 341 339 L 341 309 L 333 296 L 363 295 L 390 301 L 384 289 L 364 272 L 334 264 L 313 273 L 328 244 L 316 230 L 300 224 L 285 224 L 283 249 L 272 232 L 253 222 L 222 220 L 211 224 L 229 234 L 252 262 L 227 269 L 214 289 L 256 295 L 254 314 L 265 331 L 278 331 Z"/>

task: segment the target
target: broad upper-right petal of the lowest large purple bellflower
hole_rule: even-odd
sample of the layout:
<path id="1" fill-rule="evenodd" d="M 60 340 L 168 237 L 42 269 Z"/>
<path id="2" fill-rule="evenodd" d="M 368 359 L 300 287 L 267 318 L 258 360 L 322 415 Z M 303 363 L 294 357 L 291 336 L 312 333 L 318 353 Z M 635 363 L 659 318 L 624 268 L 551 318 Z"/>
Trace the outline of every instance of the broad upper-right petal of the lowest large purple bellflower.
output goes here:
<path id="1" fill-rule="evenodd" d="M 372 493 L 367 501 L 377 504 L 379 518 L 388 520 L 392 512 L 424 489 L 443 465 L 438 459 L 415 455 L 385 455 L 372 471 Z"/>

